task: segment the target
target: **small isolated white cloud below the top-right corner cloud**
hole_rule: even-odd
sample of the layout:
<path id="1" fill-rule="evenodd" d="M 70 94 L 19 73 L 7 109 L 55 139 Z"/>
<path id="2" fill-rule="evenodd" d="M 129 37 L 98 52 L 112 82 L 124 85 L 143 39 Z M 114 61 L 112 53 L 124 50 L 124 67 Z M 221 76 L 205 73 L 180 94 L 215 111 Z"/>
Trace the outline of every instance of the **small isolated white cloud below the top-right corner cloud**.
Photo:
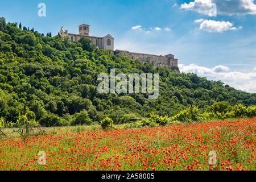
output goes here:
<path id="1" fill-rule="evenodd" d="M 234 27 L 233 23 L 230 22 L 225 22 L 225 21 L 215 21 L 215 20 L 203 20 L 203 19 L 198 19 L 195 20 L 196 23 L 201 23 L 200 24 L 200 30 L 205 30 L 208 32 L 217 32 L 217 33 L 222 33 L 225 31 L 230 31 L 230 30 L 240 30 L 242 27 Z"/>

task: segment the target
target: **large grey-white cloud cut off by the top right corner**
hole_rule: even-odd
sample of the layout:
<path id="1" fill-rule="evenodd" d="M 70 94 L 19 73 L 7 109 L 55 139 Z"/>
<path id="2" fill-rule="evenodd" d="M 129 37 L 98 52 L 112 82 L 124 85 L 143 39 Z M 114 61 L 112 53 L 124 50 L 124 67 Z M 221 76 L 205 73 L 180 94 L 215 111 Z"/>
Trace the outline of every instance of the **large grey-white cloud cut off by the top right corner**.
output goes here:
<path id="1" fill-rule="evenodd" d="M 213 10 L 215 7 L 219 15 L 256 14 L 254 0 L 194 0 L 189 3 L 183 3 L 180 9 L 214 16 Z"/>

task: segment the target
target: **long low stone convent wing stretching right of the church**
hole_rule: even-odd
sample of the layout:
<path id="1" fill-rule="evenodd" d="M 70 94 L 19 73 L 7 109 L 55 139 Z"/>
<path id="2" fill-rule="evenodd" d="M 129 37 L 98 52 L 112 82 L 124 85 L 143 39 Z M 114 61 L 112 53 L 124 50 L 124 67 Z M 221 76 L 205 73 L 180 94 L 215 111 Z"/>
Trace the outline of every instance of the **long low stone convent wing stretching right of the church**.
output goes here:
<path id="1" fill-rule="evenodd" d="M 172 70 L 176 70 L 180 73 L 178 67 L 178 60 L 174 58 L 174 55 L 168 54 L 166 56 L 151 55 L 147 53 L 129 52 L 123 50 L 115 50 L 115 55 L 123 56 L 127 55 L 133 60 L 147 61 L 155 67 L 170 67 Z"/>

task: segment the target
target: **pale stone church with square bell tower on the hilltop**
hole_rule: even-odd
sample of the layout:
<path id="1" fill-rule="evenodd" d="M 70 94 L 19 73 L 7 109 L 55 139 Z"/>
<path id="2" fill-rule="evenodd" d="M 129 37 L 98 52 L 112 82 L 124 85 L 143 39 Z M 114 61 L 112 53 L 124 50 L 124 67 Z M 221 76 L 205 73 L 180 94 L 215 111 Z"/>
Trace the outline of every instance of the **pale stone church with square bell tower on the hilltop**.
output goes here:
<path id="1" fill-rule="evenodd" d="M 78 41 L 80 38 L 89 38 L 93 45 L 100 49 L 107 49 L 114 51 L 114 38 L 111 35 L 104 37 L 90 36 L 90 26 L 88 24 L 81 24 L 79 26 L 79 34 L 71 34 L 68 30 L 64 30 L 63 27 L 60 29 L 60 36 L 68 36 L 71 42 Z"/>

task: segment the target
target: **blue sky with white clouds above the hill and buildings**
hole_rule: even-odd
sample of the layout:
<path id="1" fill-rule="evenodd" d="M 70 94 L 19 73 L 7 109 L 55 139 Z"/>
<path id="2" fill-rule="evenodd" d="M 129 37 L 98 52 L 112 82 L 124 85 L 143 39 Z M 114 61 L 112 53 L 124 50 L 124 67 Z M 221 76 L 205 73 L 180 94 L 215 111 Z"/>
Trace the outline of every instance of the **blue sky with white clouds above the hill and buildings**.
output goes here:
<path id="1" fill-rule="evenodd" d="M 39 3 L 46 16 L 38 16 Z M 179 59 L 181 72 L 256 93 L 254 0 L 0 0 L 0 16 L 46 34 L 114 37 L 114 48 Z"/>

